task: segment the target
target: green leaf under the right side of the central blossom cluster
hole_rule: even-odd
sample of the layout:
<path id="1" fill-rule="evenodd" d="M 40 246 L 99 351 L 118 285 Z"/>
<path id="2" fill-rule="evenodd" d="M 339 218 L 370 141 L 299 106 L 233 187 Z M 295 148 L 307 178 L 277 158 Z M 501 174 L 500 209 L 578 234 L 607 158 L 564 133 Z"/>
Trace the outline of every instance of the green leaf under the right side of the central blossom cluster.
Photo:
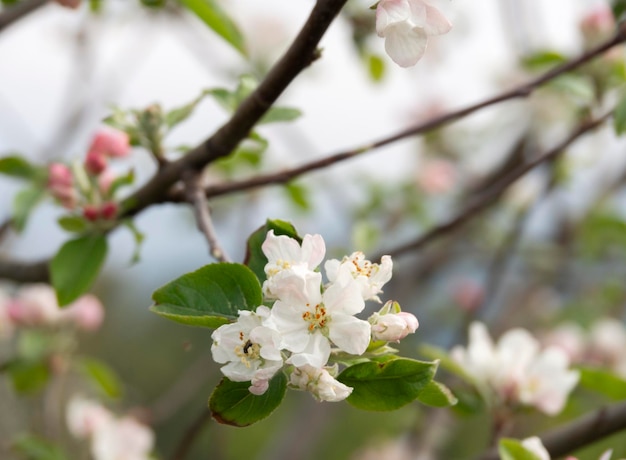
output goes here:
<path id="1" fill-rule="evenodd" d="M 373 411 L 388 411 L 414 401 L 432 381 L 437 362 L 394 359 L 382 363 L 366 362 L 343 370 L 337 380 L 352 387 L 347 401 Z"/>

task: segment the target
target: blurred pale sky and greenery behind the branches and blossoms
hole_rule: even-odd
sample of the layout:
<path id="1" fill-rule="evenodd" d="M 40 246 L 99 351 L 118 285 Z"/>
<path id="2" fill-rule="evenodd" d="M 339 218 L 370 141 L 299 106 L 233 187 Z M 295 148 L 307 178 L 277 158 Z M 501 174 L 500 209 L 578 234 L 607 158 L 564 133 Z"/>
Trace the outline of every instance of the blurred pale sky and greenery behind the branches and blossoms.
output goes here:
<path id="1" fill-rule="evenodd" d="M 220 2 L 243 32 L 246 59 L 175 1 L 92 3 L 94 8 L 85 2 L 77 10 L 47 4 L 0 34 L 1 156 L 19 153 L 42 165 L 81 160 L 112 106 L 144 109 L 157 103 L 167 110 L 204 89 L 233 89 L 244 74 L 261 79 L 314 4 Z M 207 183 L 280 171 L 367 145 L 528 81 L 610 37 L 615 27 L 585 28 L 586 18 L 607 6 L 601 1 L 438 1 L 452 31 L 431 38 L 417 66 L 401 69 L 385 55 L 369 6 L 348 2 L 321 43 L 322 58 L 280 99 L 303 115 L 260 127 L 267 150 L 255 161 L 209 167 Z M 521 161 L 561 142 L 585 117 L 612 107 L 626 81 L 623 49 L 613 51 L 529 98 L 478 111 L 287 187 L 211 199 L 220 242 L 241 261 L 248 235 L 267 218 L 277 218 L 292 222 L 300 234 L 322 234 L 329 256 L 359 249 L 371 257 L 391 252 L 394 277 L 383 300 L 398 300 L 419 318 L 417 333 L 401 347 L 414 358 L 424 343 L 465 343 L 473 318 L 488 322 L 496 334 L 512 326 L 548 331 L 564 321 L 585 328 L 600 315 L 623 319 L 626 157 L 624 140 L 610 124 L 530 172 L 460 231 L 418 251 L 396 251 L 454 217 Z M 203 100 L 165 139 L 172 157 L 177 147 L 207 138 L 228 116 L 211 98 Z M 137 185 L 155 171 L 141 148 L 115 167 L 133 168 Z M 0 179 L 1 219 L 10 217 L 20 187 L 19 181 Z M 54 255 L 70 237 L 56 224 L 63 212 L 51 201 L 43 203 L 22 233 L 4 236 L 0 256 L 38 261 Z M 104 324 L 77 340 L 81 353 L 106 362 L 122 382 L 110 406 L 141 414 L 156 431 L 160 458 L 171 458 L 221 374 L 211 359 L 210 331 L 154 315 L 148 311 L 150 296 L 212 259 L 189 206 L 152 206 L 135 225 L 145 235 L 139 261 L 130 263 L 132 234 L 114 231 L 93 289 L 106 307 Z M 4 286 L 14 288 L 10 282 Z M 20 395 L 0 381 L 0 395 L 2 444 L 22 431 L 46 430 L 41 394 Z M 577 401 L 561 419 L 598 402 L 589 395 Z M 486 415 L 466 406 L 460 415 L 417 404 L 364 413 L 289 392 L 271 417 L 252 427 L 209 422 L 188 458 L 472 458 L 488 445 L 489 430 Z M 553 423 L 528 414 L 519 432 Z M 623 437 L 605 444 L 626 455 Z M 602 448 L 580 458 L 595 459 Z M 0 456 L 11 458 L 6 455 Z"/>

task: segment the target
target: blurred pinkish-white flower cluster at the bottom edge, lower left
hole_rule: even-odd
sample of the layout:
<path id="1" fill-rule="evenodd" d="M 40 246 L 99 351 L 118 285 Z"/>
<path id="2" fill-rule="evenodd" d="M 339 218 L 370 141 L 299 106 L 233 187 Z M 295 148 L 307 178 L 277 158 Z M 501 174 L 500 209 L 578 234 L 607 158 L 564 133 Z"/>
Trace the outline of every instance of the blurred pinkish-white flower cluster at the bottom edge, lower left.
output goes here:
<path id="1" fill-rule="evenodd" d="M 90 441 L 94 460 L 152 458 L 154 433 L 133 417 L 118 418 L 99 403 L 78 396 L 70 400 L 66 416 L 70 433 Z"/>

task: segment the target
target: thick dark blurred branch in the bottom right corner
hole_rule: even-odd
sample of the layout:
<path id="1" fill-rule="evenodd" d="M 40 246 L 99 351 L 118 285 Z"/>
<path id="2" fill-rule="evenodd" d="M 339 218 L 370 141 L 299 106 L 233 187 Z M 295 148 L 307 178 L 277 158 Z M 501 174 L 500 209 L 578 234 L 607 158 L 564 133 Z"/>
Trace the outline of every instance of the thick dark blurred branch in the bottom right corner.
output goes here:
<path id="1" fill-rule="evenodd" d="M 561 457 L 626 429 L 626 401 L 603 407 L 549 431 L 541 441 L 552 458 Z M 480 460 L 498 460 L 497 450 L 490 450 Z"/>

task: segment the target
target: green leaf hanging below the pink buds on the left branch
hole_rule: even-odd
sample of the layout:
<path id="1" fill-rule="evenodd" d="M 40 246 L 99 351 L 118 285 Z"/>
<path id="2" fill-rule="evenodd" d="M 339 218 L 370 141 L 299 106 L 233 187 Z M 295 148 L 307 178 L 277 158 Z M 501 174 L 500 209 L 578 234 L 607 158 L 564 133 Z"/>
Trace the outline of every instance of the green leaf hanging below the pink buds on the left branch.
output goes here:
<path id="1" fill-rule="evenodd" d="M 104 235 L 86 235 L 65 243 L 50 261 L 50 278 L 60 306 L 89 290 L 107 254 Z"/>

